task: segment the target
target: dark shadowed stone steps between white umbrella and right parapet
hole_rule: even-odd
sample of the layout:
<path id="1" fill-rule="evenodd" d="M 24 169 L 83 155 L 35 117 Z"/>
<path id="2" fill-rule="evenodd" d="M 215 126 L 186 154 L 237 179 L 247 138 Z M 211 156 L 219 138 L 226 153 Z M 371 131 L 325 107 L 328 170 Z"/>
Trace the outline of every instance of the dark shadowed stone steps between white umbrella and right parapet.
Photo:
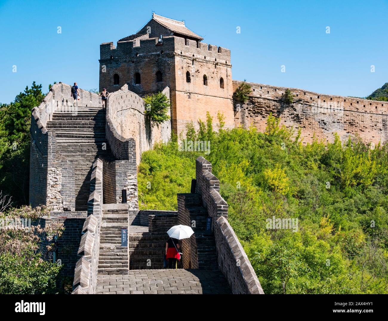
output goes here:
<path id="1" fill-rule="evenodd" d="M 190 221 L 195 221 L 192 229 L 196 238 L 199 269 L 218 269 L 214 235 L 204 234 L 209 215 L 202 205 L 201 195 L 193 193 L 185 197 L 185 206 L 190 213 Z"/>

